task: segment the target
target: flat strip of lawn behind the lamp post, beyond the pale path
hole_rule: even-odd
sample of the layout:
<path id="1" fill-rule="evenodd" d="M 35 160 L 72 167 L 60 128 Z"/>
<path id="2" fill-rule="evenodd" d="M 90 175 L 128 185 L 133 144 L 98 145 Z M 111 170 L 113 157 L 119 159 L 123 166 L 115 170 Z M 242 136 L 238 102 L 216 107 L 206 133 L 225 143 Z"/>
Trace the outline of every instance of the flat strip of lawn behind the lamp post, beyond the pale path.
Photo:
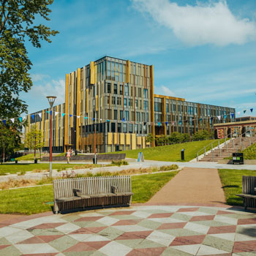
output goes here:
<path id="1" fill-rule="evenodd" d="M 65 170 L 67 168 L 89 168 L 89 167 L 100 167 L 101 165 L 89 165 L 89 164 L 54 164 L 53 169 Z M 0 165 L 0 175 L 5 175 L 5 173 L 25 173 L 26 171 L 31 170 L 49 170 L 49 164 L 29 164 L 29 163 L 10 163 Z"/>

